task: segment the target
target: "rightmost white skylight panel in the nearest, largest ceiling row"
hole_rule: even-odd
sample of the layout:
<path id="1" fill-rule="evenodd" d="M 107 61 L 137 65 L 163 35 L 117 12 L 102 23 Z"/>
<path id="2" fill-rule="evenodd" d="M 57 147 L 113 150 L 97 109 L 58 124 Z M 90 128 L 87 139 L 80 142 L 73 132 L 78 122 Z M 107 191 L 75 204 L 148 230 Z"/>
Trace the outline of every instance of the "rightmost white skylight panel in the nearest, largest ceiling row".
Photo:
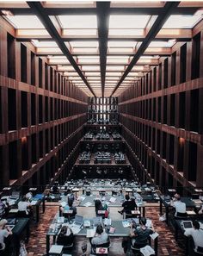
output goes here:
<path id="1" fill-rule="evenodd" d="M 164 23 L 163 28 L 194 28 L 194 25 L 199 22 L 203 16 L 169 16 L 169 19 Z"/>

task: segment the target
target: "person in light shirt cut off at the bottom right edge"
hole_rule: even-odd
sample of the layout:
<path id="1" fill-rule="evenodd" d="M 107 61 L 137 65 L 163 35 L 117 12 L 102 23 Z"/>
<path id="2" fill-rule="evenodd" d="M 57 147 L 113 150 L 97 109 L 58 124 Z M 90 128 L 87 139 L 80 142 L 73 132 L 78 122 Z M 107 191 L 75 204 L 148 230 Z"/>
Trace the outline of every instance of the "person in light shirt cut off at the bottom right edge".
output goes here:
<path id="1" fill-rule="evenodd" d="M 184 234 L 193 237 L 194 252 L 203 253 L 203 229 L 200 228 L 200 223 L 198 221 L 193 221 L 193 228 L 187 228 Z"/>

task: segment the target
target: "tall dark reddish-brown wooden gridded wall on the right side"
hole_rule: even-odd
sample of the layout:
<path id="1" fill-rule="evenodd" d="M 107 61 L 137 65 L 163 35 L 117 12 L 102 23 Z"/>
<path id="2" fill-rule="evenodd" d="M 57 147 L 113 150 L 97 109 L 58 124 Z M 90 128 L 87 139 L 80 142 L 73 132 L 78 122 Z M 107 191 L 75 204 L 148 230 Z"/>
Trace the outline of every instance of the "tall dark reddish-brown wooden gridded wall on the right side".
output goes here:
<path id="1" fill-rule="evenodd" d="M 180 191 L 203 186 L 202 25 L 119 97 L 122 132 L 138 178 Z"/>

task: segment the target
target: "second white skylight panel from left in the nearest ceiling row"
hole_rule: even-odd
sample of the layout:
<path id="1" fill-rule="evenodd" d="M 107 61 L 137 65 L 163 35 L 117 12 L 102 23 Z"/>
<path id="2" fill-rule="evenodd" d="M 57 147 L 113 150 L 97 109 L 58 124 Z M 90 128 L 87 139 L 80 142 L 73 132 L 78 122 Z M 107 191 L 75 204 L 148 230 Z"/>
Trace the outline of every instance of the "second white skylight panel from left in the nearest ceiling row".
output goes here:
<path id="1" fill-rule="evenodd" d="M 96 16 L 58 16 L 62 28 L 97 28 Z"/>

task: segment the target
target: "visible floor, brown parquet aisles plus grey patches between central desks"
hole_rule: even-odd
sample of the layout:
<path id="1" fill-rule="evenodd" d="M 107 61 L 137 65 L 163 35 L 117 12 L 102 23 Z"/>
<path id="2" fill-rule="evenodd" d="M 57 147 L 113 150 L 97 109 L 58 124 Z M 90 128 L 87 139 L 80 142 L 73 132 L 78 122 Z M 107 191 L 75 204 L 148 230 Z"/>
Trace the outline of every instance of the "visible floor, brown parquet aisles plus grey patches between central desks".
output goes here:
<path id="1" fill-rule="evenodd" d="M 32 255 L 45 255 L 46 254 L 46 231 L 52 222 L 52 218 L 58 212 L 58 206 L 51 205 L 52 203 L 47 203 L 46 213 L 41 215 L 40 222 L 38 225 L 32 225 L 31 236 L 27 245 L 28 256 Z M 55 203 L 53 203 L 55 204 Z M 110 217 L 114 220 L 121 220 L 122 216 L 118 213 L 117 207 L 110 209 Z M 94 216 L 94 208 L 89 207 L 77 207 L 77 213 L 83 215 L 83 217 Z M 158 255 L 170 255 L 170 256 L 183 256 L 183 250 L 181 249 L 182 244 L 177 245 L 175 241 L 174 234 L 171 232 L 170 228 L 164 222 L 159 221 L 158 207 L 147 207 L 146 217 L 151 218 L 154 224 L 154 228 L 159 234 L 158 238 Z M 78 237 L 77 237 L 78 238 Z M 82 255 L 81 246 L 83 243 L 88 244 L 87 255 L 90 252 L 89 240 L 86 238 L 77 239 L 76 247 L 73 250 L 73 256 Z M 126 255 L 121 247 L 122 239 L 111 239 L 111 245 L 109 256 L 121 256 Z"/>

